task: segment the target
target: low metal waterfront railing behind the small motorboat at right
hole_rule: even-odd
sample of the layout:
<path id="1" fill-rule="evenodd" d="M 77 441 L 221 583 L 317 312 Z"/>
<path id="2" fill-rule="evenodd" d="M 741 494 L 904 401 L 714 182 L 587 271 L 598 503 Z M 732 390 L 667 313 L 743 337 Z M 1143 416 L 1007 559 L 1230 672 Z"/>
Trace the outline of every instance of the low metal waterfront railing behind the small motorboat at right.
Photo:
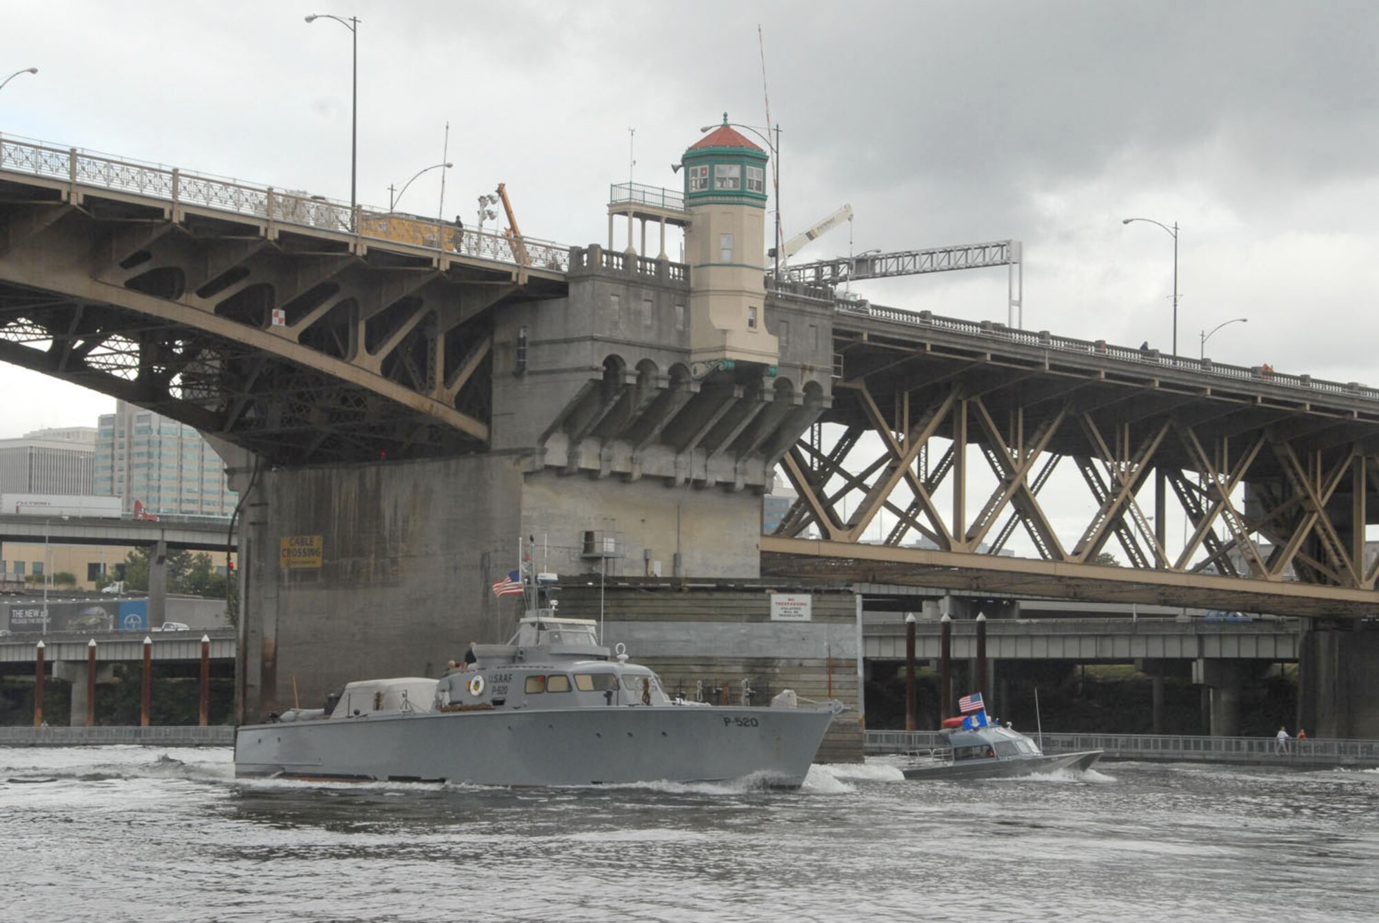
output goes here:
<path id="1" fill-rule="evenodd" d="M 1280 749 L 1273 737 L 1205 737 L 1187 734 L 1070 734 L 1023 732 L 1047 754 L 1099 749 L 1103 759 L 1156 762 L 1251 763 L 1274 766 L 1379 767 L 1379 740 L 1289 740 Z M 932 730 L 869 730 L 867 754 L 931 755 L 947 743 Z"/>

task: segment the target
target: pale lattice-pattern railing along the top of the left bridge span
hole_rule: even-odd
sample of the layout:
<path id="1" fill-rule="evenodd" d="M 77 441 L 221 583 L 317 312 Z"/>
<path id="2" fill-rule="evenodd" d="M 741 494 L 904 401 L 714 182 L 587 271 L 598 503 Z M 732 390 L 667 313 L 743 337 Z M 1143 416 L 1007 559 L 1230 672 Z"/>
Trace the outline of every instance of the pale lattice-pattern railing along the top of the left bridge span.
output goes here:
<path id="1" fill-rule="evenodd" d="M 189 174 L 177 167 L 116 158 L 55 147 L 28 138 L 0 136 L 0 169 L 61 179 L 72 186 L 91 186 L 160 198 L 172 204 L 203 205 L 236 215 L 263 218 L 281 225 L 390 240 L 412 247 L 462 253 L 498 263 L 568 271 L 570 248 L 534 237 L 461 230 L 441 220 L 399 215 L 305 190 L 283 190 L 237 179 Z"/>

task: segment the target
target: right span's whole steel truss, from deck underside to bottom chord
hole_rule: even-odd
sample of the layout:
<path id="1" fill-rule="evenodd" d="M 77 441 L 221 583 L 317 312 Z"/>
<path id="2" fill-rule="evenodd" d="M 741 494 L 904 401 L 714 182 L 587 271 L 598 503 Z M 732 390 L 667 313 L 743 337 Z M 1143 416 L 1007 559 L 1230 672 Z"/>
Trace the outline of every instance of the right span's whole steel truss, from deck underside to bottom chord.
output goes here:
<path id="1" fill-rule="evenodd" d="M 1280 614 L 1379 613 L 1379 555 L 1365 543 L 1379 518 L 1379 404 L 1368 390 L 1322 383 L 1303 397 L 1306 376 L 1214 382 L 1196 361 L 1185 375 L 1140 373 L 1107 361 L 1105 346 L 1063 361 L 938 322 L 920 332 L 852 320 L 836 329 L 833 405 L 781 463 L 798 499 L 781 541 L 764 540 L 765 573 L 841 576 L 854 544 L 858 573 L 876 580 L 928 555 L 943 566 L 913 580 L 968 585 L 952 576 L 960 561 L 1008 554 L 1020 537 L 1027 563 L 1047 562 L 1036 565 L 1044 592 L 1058 573 L 1078 573 L 1062 579 L 1067 590 L 1114 559 L 1123 583 L 1176 574 L 1127 585 L 1125 599 L 1186 601 L 1193 585 L 1230 579 L 1265 584 L 1251 592 Z M 1071 477 L 1051 490 L 1056 470 Z M 800 537 L 829 550 L 809 561 L 809 543 L 790 541 Z"/>

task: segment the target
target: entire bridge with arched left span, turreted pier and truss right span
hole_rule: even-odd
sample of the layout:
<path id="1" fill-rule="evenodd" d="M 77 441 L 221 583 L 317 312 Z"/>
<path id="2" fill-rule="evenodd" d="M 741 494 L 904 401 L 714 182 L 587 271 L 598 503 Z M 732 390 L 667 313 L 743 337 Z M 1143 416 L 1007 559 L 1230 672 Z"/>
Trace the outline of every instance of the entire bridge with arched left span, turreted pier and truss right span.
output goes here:
<path id="1" fill-rule="evenodd" d="M 685 172 L 754 169 L 739 141 L 721 127 Z M 255 714 L 284 668 L 316 694 L 415 670 L 419 639 L 502 635 L 488 587 L 528 539 L 543 569 L 600 579 L 1302 616 L 1317 670 L 1379 663 L 1350 630 L 1379 612 L 1379 393 L 763 281 L 750 169 L 699 176 L 641 196 L 626 249 L 561 248 L 0 138 L 0 361 L 226 446 Z M 749 230 L 718 229 L 725 209 Z M 634 220 L 685 227 L 688 263 L 638 255 Z M 798 501 L 761 536 L 778 466 Z M 1354 715 L 1379 727 L 1379 701 Z"/>

